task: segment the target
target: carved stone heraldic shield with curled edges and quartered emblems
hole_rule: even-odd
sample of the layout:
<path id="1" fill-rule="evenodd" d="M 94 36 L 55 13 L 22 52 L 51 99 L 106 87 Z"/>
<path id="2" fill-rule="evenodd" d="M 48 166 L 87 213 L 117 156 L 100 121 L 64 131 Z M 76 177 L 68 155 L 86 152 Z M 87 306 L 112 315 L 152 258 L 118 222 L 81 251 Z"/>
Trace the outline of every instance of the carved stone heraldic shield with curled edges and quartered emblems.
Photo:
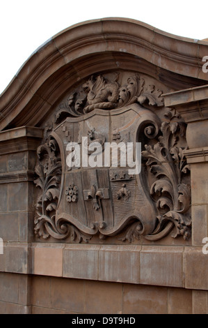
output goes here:
<path id="1" fill-rule="evenodd" d="M 141 163 L 137 163 L 136 172 L 136 167 L 129 167 L 127 162 L 127 152 L 131 149 L 127 146 L 134 146 L 131 155 L 134 156 L 132 163 L 136 163 L 139 132 L 150 124 L 158 131 L 157 116 L 134 104 L 120 110 L 93 110 L 79 118 L 67 117 L 54 130 L 51 135 L 61 149 L 63 171 L 57 222 L 71 223 L 90 235 L 98 232 L 102 236 L 113 236 L 132 222 L 141 233 L 152 232 L 157 214 L 143 188 Z M 106 153 L 106 145 L 110 146 L 109 153 Z M 69 154 L 72 165 L 67 165 Z M 76 155 L 79 163 L 76 163 Z M 84 167 L 83 156 L 86 156 Z M 99 167 L 93 156 L 99 156 Z"/>

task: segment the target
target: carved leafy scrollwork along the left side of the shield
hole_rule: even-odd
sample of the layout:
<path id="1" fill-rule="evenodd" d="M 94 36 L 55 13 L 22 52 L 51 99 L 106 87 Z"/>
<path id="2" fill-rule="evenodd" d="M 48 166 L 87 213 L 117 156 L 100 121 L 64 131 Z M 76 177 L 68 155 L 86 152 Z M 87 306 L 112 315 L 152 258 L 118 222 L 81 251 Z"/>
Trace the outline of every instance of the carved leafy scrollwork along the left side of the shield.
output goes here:
<path id="1" fill-rule="evenodd" d="M 36 204 L 35 217 L 35 234 L 38 237 L 47 239 L 50 236 L 55 239 L 65 239 L 71 237 L 72 240 L 81 242 L 88 241 L 90 237 L 86 237 L 76 227 L 56 220 L 56 209 L 61 191 L 61 158 L 56 140 L 51 139 L 45 142 L 37 150 L 38 163 L 35 166 L 35 185 L 40 189 L 41 193 Z M 67 188 L 69 194 L 72 190 L 72 202 L 77 202 L 78 189 L 77 186 Z M 69 195 L 67 196 L 69 197 Z"/>

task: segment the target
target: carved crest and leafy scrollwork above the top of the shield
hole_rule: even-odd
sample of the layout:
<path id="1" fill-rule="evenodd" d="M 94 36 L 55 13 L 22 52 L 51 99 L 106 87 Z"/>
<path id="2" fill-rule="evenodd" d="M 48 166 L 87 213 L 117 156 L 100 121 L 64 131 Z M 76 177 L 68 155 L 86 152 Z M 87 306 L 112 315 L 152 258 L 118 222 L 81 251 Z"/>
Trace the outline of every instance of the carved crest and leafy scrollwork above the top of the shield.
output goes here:
<path id="1" fill-rule="evenodd" d="M 121 85 L 118 76 L 119 74 L 115 74 L 112 80 L 107 80 L 102 75 L 92 75 L 82 84 L 81 89 L 74 91 L 65 103 L 59 105 L 56 123 L 65 117 L 79 117 L 95 108 L 112 110 L 132 103 L 163 106 L 162 91 L 156 89 L 154 84 L 146 86 L 145 80 L 136 73 Z"/>

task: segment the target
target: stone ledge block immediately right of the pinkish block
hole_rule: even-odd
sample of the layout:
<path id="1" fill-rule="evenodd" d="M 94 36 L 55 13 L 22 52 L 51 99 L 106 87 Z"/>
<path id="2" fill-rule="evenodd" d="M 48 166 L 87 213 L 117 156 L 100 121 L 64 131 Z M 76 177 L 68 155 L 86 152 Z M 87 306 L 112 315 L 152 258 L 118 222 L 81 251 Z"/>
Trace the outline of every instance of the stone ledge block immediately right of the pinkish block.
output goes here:
<path id="1" fill-rule="evenodd" d="M 63 276 L 97 280 L 99 248 L 99 245 L 66 246 L 63 250 Z"/>

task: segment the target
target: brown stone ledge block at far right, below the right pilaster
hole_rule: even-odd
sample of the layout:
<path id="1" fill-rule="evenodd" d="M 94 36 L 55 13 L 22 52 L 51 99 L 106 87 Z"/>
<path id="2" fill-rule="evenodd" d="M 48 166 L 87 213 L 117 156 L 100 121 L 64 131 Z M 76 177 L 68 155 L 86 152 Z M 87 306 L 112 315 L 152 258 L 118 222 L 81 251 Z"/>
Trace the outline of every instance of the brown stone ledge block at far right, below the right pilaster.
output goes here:
<path id="1" fill-rule="evenodd" d="M 202 247 L 186 248 L 184 251 L 185 288 L 208 290 L 207 271 L 208 254 L 202 253 Z"/>

